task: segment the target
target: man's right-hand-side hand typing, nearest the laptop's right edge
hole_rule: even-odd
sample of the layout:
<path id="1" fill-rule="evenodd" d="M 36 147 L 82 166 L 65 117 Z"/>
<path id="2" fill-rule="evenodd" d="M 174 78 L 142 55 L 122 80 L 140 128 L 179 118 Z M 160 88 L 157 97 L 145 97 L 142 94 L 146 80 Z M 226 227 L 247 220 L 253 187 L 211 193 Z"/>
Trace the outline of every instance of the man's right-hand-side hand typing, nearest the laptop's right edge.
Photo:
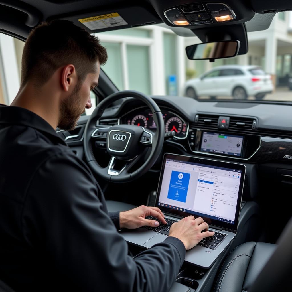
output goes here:
<path id="1" fill-rule="evenodd" d="M 173 223 L 170 227 L 169 236 L 176 237 L 180 239 L 185 245 L 185 249 L 191 249 L 194 247 L 201 239 L 213 236 L 214 232 L 202 230 L 208 230 L 209 225 L 204 222 L 203 218 L 199 217 L 197 219 L 194 216 L 188 216 Z"/>

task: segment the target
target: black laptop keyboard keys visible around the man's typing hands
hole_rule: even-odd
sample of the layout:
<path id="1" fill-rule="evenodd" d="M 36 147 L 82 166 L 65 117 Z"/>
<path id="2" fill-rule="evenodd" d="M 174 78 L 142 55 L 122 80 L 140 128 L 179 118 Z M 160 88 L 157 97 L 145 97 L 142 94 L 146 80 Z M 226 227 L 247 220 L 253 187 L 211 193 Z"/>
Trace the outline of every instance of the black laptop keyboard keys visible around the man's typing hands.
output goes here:
<path id="1" fill-rule="evenodd" d="M 146 216 L 145 218 L 151 219 L 151 220 L 156 220 L 159 222 L 160 225 L 158 227 L 142 226 L 142 228 L 152 230 L 155 232 L 159 232 L 159 233 L 165 234 L 165 235 L 169 234 L 171 224 L 178 222 L 178 220 L 175 220 L 175 219 L 164 218 L 166 221 L 166 224 L 163 225 L 161 223 L 161 221 L 159 221 L 157 218 L 155 218 L 153 216 Z M 202 232 L 204 232 L 204 231 L 205 230 L 203 230 Z M 225 236 L 227 235 L 225 233 L 217 232 L 217 231 L 211 230 L 211 229 L 209 229 L 208 231 L 214 231 L 215 232 L 214 236 L 209 236 L 209 237 L 203 238 L 197 245 L 205 247 L 205 248 L 215 249 L 220 244 L 220 242 L 225 238 Z"/>

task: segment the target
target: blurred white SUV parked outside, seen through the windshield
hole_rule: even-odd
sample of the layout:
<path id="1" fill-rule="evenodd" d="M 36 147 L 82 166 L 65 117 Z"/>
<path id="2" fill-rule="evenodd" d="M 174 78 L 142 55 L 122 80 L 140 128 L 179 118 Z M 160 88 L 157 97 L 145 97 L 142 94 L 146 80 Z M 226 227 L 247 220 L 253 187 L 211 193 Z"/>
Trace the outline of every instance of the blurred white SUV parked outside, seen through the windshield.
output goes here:
<path id="1" fill-rule="evenodd" d="M 271 75 L 261 67 L 253 65 L 224 65 L 214 67 L 198 78 L 185 84 L 186 96 L 233 96 L 234 99 L 246 99 L 253 95 L 262 100 L 274 90 Z"/>

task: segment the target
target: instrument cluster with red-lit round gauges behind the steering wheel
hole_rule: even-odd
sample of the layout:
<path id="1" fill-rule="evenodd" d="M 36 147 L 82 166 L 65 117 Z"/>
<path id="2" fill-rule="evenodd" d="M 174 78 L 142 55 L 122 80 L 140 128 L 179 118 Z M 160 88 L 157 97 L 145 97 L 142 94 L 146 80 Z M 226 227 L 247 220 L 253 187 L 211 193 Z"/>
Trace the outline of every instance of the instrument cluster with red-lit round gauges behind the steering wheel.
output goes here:
<path id="1" fill-rule="evenodd" d="M 184 139 L 187 137 L 188 123 L 167 109 L 161 109 L 164 120 L 165 132 L 175 131 L 175 138 Z M 152 117 L 152 112 L 147 107 L 134 109 L 119 118 L 119 124 L 136 125 L 156 131 L 156 124 Z"/>

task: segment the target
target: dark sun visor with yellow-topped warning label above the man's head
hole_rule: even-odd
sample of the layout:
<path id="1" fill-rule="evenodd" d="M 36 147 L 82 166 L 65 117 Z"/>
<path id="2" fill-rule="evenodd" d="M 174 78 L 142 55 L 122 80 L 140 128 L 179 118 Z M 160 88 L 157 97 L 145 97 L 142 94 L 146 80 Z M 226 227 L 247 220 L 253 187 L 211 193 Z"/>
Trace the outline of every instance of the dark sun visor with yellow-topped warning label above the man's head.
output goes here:
<path id="1" fill-rule="evenodd" d="M 83 27 L 92 33 L 162 22 L 154 10 L 149 11 L 141 6 L 98 10 L 97 12 L 91 11 L 69 16 L 55 16 L 54 18 L 70 20 L 75 25 Z"/>

